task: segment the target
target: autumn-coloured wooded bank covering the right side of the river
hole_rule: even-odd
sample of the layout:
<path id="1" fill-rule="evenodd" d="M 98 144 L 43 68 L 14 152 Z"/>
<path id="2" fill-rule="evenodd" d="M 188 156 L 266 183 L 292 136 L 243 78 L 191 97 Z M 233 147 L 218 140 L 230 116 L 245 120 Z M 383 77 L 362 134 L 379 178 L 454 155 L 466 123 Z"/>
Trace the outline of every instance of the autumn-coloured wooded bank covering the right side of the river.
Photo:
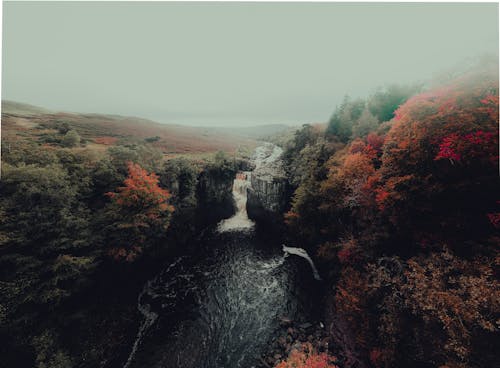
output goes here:
<path id="1" fill-rule="evenodd" d="M 305 125 L 286 146 L 285 219 L 329 277 L 346 367 L 496 362 L 498 74 L 421 91 L 346 98 L 325 131 Z"/>

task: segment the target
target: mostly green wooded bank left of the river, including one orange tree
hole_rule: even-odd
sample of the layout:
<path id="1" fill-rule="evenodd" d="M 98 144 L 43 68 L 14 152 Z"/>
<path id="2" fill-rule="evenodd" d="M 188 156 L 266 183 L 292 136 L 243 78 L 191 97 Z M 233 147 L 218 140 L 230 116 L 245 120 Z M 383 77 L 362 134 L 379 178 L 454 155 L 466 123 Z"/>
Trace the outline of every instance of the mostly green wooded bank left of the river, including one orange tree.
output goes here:
<path id="1" fill-rule="evenodd" d="M 200 198 L 231 195 L 237 162 L 165 159 L 155 142 L 91 142 L 71 119 L 20 116 L 2 121 L 0 365 L 119 364 L 150 266 L 195 232 Z"/>

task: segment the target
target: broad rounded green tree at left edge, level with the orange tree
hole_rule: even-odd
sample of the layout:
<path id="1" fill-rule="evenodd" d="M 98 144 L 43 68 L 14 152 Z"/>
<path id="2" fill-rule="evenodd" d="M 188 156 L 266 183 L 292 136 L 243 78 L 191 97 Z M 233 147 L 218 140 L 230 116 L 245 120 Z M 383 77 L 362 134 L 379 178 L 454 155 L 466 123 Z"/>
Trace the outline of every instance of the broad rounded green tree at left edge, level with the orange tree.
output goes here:
<path id="1" fill-rule="evenodd" d="M 39 253 L 58 253 L 74 247 L 85 235 L 87 211 L 79 201 L 78 187 L 59 165 L 2 166 L 5 211 L 2 228 L 11 233 L 9 243 L 33 245 Z"/>

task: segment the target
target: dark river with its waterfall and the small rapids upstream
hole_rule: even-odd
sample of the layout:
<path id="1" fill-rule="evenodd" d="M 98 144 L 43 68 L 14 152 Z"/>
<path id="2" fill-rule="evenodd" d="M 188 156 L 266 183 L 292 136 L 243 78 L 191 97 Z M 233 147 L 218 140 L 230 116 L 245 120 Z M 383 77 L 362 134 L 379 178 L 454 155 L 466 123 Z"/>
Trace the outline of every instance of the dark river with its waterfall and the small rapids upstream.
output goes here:
<path id="1" fill-rule="evenodd" d="M 277 156 L 267 151 L 257 149 L 257 166 Z M 197 254 L 175 260 L 144 286 L 143 321 L 124 368 L 256 367 L 280 319 L 310 313 L 316 281 L 309 265 L 287 257 L 279 239 L 260 234 L 246 215 L 250 175 L 234 181 L 234 216 L 205 231 Z"/>

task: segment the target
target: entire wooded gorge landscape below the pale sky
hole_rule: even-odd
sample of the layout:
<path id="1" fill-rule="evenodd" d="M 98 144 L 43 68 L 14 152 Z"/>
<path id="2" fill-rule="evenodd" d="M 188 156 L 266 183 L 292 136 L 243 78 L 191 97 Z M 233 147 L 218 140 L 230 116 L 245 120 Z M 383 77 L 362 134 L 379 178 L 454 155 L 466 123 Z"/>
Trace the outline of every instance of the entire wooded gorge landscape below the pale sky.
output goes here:
<path id="1" fill-rule="evenodd" d="M 0 366 L 496 366 L 494 66 L 230 148 L 3 109 Z"/>

